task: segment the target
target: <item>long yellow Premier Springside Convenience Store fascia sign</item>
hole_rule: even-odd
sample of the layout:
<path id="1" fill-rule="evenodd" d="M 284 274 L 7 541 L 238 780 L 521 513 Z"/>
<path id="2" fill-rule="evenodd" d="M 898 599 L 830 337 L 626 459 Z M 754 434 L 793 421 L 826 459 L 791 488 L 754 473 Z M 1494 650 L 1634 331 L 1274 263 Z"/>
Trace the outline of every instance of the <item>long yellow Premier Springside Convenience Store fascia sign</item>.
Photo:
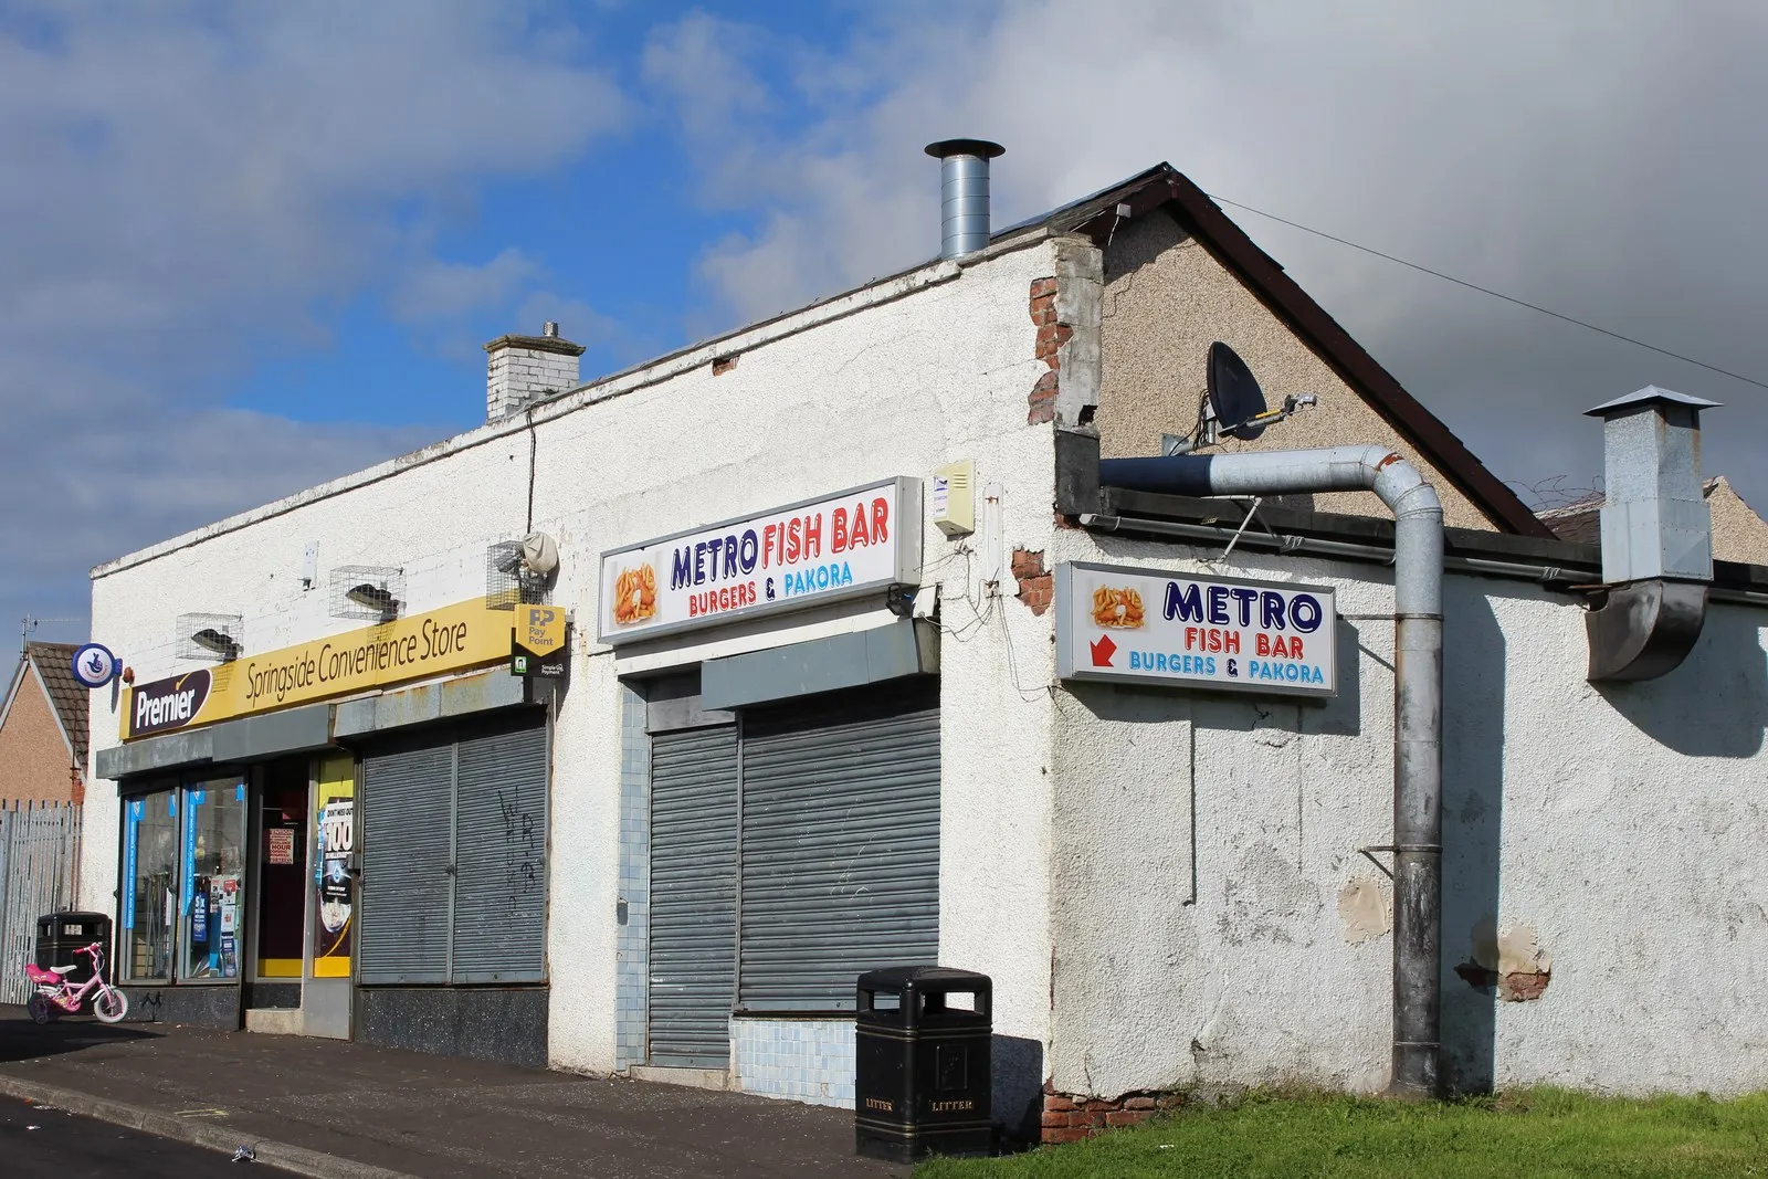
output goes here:
<path id="1" fill-rule="evenodd" d="M 511 629 L 507 610 L 474 599 L 136 684 L 122 698 L 122 739 L 500 663 L 509 658 Z"/>

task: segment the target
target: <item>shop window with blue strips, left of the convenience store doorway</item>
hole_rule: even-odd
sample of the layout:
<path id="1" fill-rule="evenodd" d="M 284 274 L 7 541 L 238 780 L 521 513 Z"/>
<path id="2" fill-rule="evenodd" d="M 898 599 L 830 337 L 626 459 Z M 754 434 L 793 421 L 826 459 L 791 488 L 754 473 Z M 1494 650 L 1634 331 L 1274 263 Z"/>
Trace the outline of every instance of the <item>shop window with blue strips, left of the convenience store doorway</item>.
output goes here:
<path id="1" fill-rule="evenodd" d="M 124 979 L 237 979 L 246 783 L 168 785 L 124 799 L 122 880 Z"/>

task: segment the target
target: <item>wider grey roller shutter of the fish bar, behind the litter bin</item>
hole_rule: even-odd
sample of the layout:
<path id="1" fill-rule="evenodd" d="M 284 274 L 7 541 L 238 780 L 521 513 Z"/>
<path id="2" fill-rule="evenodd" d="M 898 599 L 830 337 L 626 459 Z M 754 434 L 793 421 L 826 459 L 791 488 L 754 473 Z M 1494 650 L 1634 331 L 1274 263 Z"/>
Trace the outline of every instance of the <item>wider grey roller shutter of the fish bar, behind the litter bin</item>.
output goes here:
<path id="1" fill-rule="evenodd" d="M 939 953 L 939 688 L 743 718 L 739 1004 L 852 1009 L 873 967 Z"/>

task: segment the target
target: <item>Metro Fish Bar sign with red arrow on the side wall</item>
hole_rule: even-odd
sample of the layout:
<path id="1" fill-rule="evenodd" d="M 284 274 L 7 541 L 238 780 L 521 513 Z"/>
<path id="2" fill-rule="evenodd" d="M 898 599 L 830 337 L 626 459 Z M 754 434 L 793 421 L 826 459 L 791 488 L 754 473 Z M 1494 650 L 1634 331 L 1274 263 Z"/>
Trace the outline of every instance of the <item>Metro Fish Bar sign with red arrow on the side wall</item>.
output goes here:
<path id="1" fill-rule="evenodd" d="M 1068 562 L 1055 569 L 1061 679 L 1330 696 L 1333 590 Z"/>

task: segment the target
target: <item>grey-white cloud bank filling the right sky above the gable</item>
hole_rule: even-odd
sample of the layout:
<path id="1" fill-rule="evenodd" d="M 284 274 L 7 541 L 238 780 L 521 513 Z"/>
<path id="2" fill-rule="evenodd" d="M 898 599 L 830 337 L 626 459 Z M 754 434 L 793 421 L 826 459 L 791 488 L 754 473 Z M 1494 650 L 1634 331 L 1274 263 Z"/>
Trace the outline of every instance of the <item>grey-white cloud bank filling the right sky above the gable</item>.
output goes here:
<path id="1" fill-rule="evenodd" d="M 826 60 L 723 37 L 675 76 L 693 110 L 698 80 L 766 76 L 774 53 L 822 103 L 801 131 L 758 101 L 720 136 L 688 124 L 709 198 L 748 193 L 757 217 L 702 263 L 727 323 L 935 253 L 919 148 L 971 134 L 1008 147 L 995 224 L 1167 159 L 1223 196 L 1768 373 L 1761 5 L 1022 0 L 884 19 Z M 734 65 L 704 62 L 720 46 Z M 1708 468 L 1768 502 L 1768 391 L 1231 216 L 1501 475 L 1588 483 L 1600 444 L 1577 412 L 1658 382 L 1729 403 Z"/>

